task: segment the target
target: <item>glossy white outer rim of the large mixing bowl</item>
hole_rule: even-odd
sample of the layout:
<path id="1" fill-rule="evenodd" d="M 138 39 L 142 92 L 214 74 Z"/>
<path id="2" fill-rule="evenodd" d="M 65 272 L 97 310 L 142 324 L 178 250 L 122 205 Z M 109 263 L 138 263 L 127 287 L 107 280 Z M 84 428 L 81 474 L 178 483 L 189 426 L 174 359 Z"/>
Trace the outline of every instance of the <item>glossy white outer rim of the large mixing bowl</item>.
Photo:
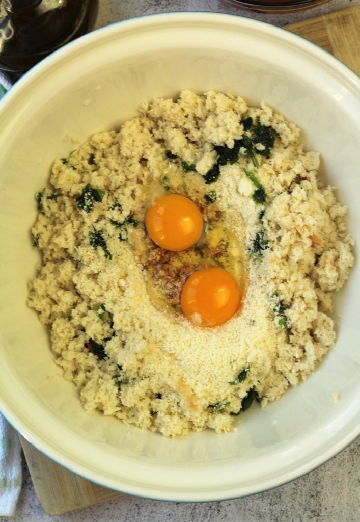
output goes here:
<path id="1" fill-rule="evenodd" d="M 113 22 L 107 26 L 95 29 L 88 34 L 85 34 L 78 39 L 67 43 L 62 48 L 53 52 L 51 55 L 45 57 L 41 62 L 31 68 L 20 80 L 18 80 L 17 84 L 9 89 L 0 100 L 0 110 L 3 106 L 7 105 L 11 102 L 11 98 L 16 95 L 16 93 L 22 89 L 27 87 L 28 82 L 32 80 L 33 77 L 37 77 L 41 75 L 43 70 L 46 70 L 48 65 L 55 64 L 58 61 L 61 61 L 63 57 L 68 55 L 69 53 L 79 50 L 82 46 L 85 46 L 87 42 L 92 40 L 97 40 L 99 38 L 103 38 L 106 34 L 116 33 L 121 31 L 124 27 L 140 25 L 146 26 L 148 22 L 152 22 L 153 20 L 161 20 L 166 22 L 181 20 L 186 21 L 190 19 L 200 20 L 200 19 L 208 19 L 224 22 L 231 22 L 233 25 L 237 25 L 238 27 L 246 27 L 246 28 L 255 28 L 262 29 L 265 33 L 274 35 L 275 37 L 280 37 L 280 39 L 285 40 L 289 43 L 293 43 L 296 47 L 300 47 L 303 51 L 309 53 L 314 58 L 317 58 L 322 63 L 330 66 L 331 68 L 335 68 L 340 76 L 346 79 L 350 84 L 352 84 L 353 88 L 357 88 L 360 91 L 360 78 L 356 75 L 356 73 L 346 64 L 341 62 L 338 58 L 331 55 L 328 51 L 320 48 L 317 44 L 306 40 L 296 33 L 292 33 L 282 27 L 273 26 L 268 22 L 263 22 L 260 20 L 255 20 L 243 16 L 231 15 L 231 14 L 223 14 L 223 13 L 213 13 L 211 11 L 172 11 L 171 13 L 157 13 L 157 14 L 147 14 L 141 15 L 134 18 L 129 18 L 125 20 L 119 20 Z M 4 417 L 8 420 L 10 424 L 14 426 L 14 428 L 24 437 L 27 441 L 29 441 L 33 446 L 39 449 L 44 455 L 51 458 L 57 464 L 65 467 L 71 472 L 78 474 L 80 477 L 83 477 L 87 480 L 91 480 L 94 483 L 102 485 L 106 488 L 111 488 L 113 490 L 128 493 L 133 496 L 140 496 L 153 500 L 162 500 L 162 501 L 175 501 L 175 502 L 209 502 L 209 501 L 220 501 L 220 500 L 231 500 L 236 499 L 243 496 L 248 496 L 256 493 L 260 493 L 263 491 L 269 491 L 271 489 L 277 488 L 280 485 L 289 483 L 299 477 L 304 476 L 310 471 L 317 469 L 319 466 L 330 460 L 335 455 L 338 455 L 343 449 L 349 446 L 356 438 L 360 435 L 360 424 L 355 427 L 350 433 L 347 433 L 346 436 L 343 436 L 341 441 L 331 447 L 331 449 L 327 450 L 327 452 L 321 454 L 321 456 L 314 457 L 313 460 L 308 462 L 306 466 L 298 466 L 296 469 L 291 471 L 283 472 L 281 476 L 277 478 L 277 480 L 273 480 L 272 484 L 264 484 L 262 487 L 253 490 L 253 491 L 244 491 L 241 492 L 241 486 L 238 487 L 238 493 L 226 494 L 225 491 L 211 491 L 209 492 L 197 492 L 195 495 L 183 495 L 182 492 L 165 492 L 158 491 L 157 494 L 151 494 L 153 489 L 150 487 L 143 488 L 141 485 L 134 487 L 133 484 L 128 486 L 125 483 L 120 483 L 119 481 L 114 482 L 109 478 L 99 477 L 99 475 L 93 472 L 90 469 L 87 469 L 85 466 L 78 465 L 77 462 L 73 462 L 70 460 L 68 455 L 63 455 L 55 443 L 51 443 L 43 440 L 37 432 L 26 426 L 16 411 L 12 410 L 5 404 L 5 401 L 2 397 L 0 397 L 0 409 L 3 413 Z M 234 489 L 234 488 L 233 488 Z"/>

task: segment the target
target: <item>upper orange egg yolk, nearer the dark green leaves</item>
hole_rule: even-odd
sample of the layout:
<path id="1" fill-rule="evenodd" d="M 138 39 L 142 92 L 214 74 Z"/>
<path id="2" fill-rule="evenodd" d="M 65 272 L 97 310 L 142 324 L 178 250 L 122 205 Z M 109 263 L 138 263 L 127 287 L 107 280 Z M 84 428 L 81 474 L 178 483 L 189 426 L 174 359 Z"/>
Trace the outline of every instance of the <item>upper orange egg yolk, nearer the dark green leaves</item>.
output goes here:
<path id="1" fill-rule="evenodd" d="M 191 199 L 179 194 L 169 194 L 158 199 L 148 209 L 145 224 L 152 241 L 173 252 L 194 245 L 203 229 L 198 207 Z"/>

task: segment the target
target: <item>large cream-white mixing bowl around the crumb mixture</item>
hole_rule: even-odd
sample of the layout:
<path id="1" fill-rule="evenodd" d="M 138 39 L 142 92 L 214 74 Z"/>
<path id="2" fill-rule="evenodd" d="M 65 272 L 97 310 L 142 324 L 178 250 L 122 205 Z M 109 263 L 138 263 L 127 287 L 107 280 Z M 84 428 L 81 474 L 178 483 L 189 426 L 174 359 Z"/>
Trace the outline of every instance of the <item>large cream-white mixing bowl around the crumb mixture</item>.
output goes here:
<path id="1" fill-rule="evenodd" d="M 118 127 L 137 106 L 180 89 L 266 100 L 321 151 L 322 173 L 349 205 L 360 240 L 359 83 L 314 44 L 254 20 L 173 13 L 105 27 L 46 58 L 0 102 L 1 410 L 46 455 L 94 482 L 176 501 L 229 499 L 273 488 L 331 458 L 359 433 L 358 264 L 337 299 L 337 345 L 302 386 L 238 418 L 239 431 L 170 440 L 86 413 L 26 305 L 39 253 L 29 230 L 34 194 L 52 160 Z M 339 404 L 332 395 L 339 393 Z"/>

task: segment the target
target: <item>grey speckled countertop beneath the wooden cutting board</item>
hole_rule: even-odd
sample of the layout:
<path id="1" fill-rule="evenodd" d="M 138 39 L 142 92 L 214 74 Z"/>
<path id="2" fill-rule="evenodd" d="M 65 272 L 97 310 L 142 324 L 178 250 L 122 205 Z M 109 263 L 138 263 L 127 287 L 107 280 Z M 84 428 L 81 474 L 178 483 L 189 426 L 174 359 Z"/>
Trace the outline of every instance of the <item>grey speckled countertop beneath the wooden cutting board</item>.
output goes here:
<path id="1" fill-rule="evenodd" d="M 230 7 L 217 0 L 100 0 L 97 27 L 149 13 L 163 11 L 217 11 L 282 26 L 346 7 L 360 0 L 330 2 L 299 13 L 268 15 Z M 360 440 L 305 477 L 272 491 L 244 499 L 179 504 L 124 496 L 50 517 L 35 494 L 23 462 L 23 487 L 14 522 L 357 522 L 360 520 Z"/>

